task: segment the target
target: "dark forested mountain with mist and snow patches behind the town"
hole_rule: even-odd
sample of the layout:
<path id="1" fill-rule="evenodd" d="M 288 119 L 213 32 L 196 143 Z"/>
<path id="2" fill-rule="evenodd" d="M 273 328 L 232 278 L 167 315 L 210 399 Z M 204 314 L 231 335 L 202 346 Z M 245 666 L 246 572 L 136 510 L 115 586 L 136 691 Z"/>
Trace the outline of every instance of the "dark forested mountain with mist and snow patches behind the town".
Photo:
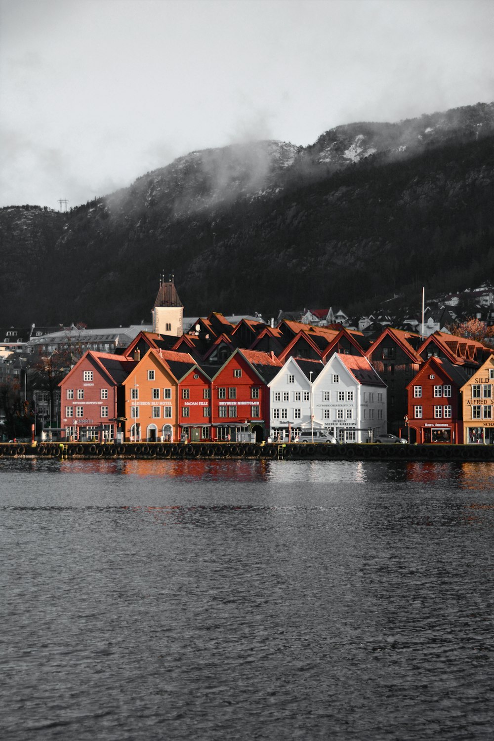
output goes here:
<path id="1" fill-rule="evenodd" d="M 493 279 L 493 144 L 478 103 L 192 152 L 69 213 L 1 209 L 0 325 L 148 322 L 162 271 L 187 316 Z"/>

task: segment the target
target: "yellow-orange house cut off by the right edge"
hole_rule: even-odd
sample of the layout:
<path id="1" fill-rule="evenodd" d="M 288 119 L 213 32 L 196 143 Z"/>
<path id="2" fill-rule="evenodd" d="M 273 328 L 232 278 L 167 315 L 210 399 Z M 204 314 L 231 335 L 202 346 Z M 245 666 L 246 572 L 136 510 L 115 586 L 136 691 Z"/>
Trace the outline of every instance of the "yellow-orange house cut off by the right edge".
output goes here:
<path id="1" fill-rule="evenodd" d="M 464 442 L 494 444 L 494 355 L 461 387 Z"/>

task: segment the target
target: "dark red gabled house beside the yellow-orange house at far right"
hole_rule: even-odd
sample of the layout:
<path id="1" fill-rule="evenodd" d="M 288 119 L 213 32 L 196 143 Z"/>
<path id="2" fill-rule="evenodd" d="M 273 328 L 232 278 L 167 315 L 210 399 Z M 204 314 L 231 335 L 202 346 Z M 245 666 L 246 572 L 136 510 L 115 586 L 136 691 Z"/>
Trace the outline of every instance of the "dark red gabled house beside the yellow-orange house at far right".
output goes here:
<path id="1" fill-rule="evenodd" d="M 407 386 L 410 442 L 462 443 L 464 368 L 431 356 Z"/>

